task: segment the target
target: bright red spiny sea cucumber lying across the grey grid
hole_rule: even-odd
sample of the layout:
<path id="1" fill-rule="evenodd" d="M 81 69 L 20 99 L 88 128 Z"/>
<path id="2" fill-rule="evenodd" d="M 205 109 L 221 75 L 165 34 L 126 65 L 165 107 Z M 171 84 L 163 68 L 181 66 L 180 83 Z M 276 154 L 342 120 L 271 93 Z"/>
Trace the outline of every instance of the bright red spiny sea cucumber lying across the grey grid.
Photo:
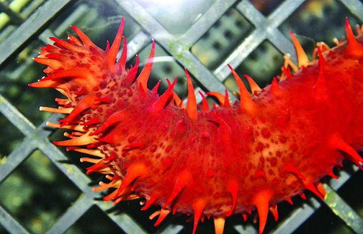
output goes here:
<path id="1" fill-rule="evenodd" d="M 56 99 L 59 109 L 41 110 L 68 114 L 61 124 L 48 123 L 74 130 L 54 143 L 91 155 L 82 158 L 94 163 L 88 173 L 109 180 L 94 190 L 116 188 L 105 200 L 142 197 L 143 209 L 160 205 L 156 224 L 170 211 L 194 214 L 193 232 L 212 216 L 222 233 L 226 216 L 257 208 L 261 233 L 269 209 L 277 219 L 278 202 L 304 197 L 306 189 L 324 198 L 323 176 L 335 177 L 343 159 L 363 162 L 356 153 L 363 145 L 363 36 L 355 39 L 348 22 L 348 41 L 320 45 L 314 61 L 293 37 L 300 68 L 291 74 L 284 66 L 280 82 L 264 89 L 249 79 L 253 95 L 231 69 L 240 101 L 211 93 L 219 106 L 204 100 L 198 111 L 188 73 L 186 107 L 172 92 L 175 81 L 161 96 L 157 86 L 147 88 L 154 47 L 136 80 L 137 64 L 125 68 L 125 39 L 114 62 L 123 24 L 105 51 L 74 26 L 81 40 L 51 38 L 34 58 L 48 66 L 47 76 L 30 85 L 67 97 Z"/>

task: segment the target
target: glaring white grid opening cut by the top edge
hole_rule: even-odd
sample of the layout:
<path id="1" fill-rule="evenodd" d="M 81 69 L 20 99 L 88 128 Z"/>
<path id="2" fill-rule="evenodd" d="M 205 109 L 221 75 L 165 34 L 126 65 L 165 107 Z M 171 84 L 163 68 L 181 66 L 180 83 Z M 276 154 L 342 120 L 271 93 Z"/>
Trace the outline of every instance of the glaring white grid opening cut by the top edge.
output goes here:
<path id="1" fill-rule="evenodd" d="M 213 5 L 209 1 L 149 1 L 136 0 L 152 17 L 175 36 L 180 36 Z"/>

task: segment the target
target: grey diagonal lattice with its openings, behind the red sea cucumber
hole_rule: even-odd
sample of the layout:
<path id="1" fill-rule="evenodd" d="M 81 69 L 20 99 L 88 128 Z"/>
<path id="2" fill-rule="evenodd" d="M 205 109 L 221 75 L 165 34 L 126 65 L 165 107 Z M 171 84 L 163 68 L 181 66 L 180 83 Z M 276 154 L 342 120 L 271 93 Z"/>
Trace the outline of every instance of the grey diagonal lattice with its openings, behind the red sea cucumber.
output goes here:
<path id="1" fill-rule="evenodd" d="M 343 35 L 345 16 L 363 23 L 358 0 L 157 2 L 169 1 L 0 1 L 0 233 L 191 233 L 184 216 L 153 227 L 152 211 L 141 212 L 139 201 L 116 207 L 102 201 L 101 193 L 91 191 L 100 177 L 85 175 L 78 154 L 51 143 L 62 136 L 44 122 L 59 116 L 37 106 L 54 106 L 57 94 L 27 87 L 42 75 L 31 58 L 49 36 L 65 38 L 74 24 L 104 47 L 124 16 L 130 59 L 138 53 L 145 61 L 151 38 L 157 43 L 152 79 L 184 77 L 187 67 L 196 91 L 223 93 L 236 89 L 227 63 L 261 86 L 269 83 L 280 72 L 282 55 L 294 58 L 289 29 L 311 47 L 310 38 L 329 42 Z M 185 82 L 179 81 L 176 90 L 185 97 Z M 269 217 L 265 233 L 363 233 L 362 172 L 346 166 L 339 180 L 326 181 L 326 200 L 310 195 L 308 201 L 294 198 L 292 206 L 280 204 L 280 220 Z M 199 233 L 213 230 L 205 222 Z M 227 219 L 225 233 L 257 229 L 253 217 L 243 222 L 236 215 Z"/>

